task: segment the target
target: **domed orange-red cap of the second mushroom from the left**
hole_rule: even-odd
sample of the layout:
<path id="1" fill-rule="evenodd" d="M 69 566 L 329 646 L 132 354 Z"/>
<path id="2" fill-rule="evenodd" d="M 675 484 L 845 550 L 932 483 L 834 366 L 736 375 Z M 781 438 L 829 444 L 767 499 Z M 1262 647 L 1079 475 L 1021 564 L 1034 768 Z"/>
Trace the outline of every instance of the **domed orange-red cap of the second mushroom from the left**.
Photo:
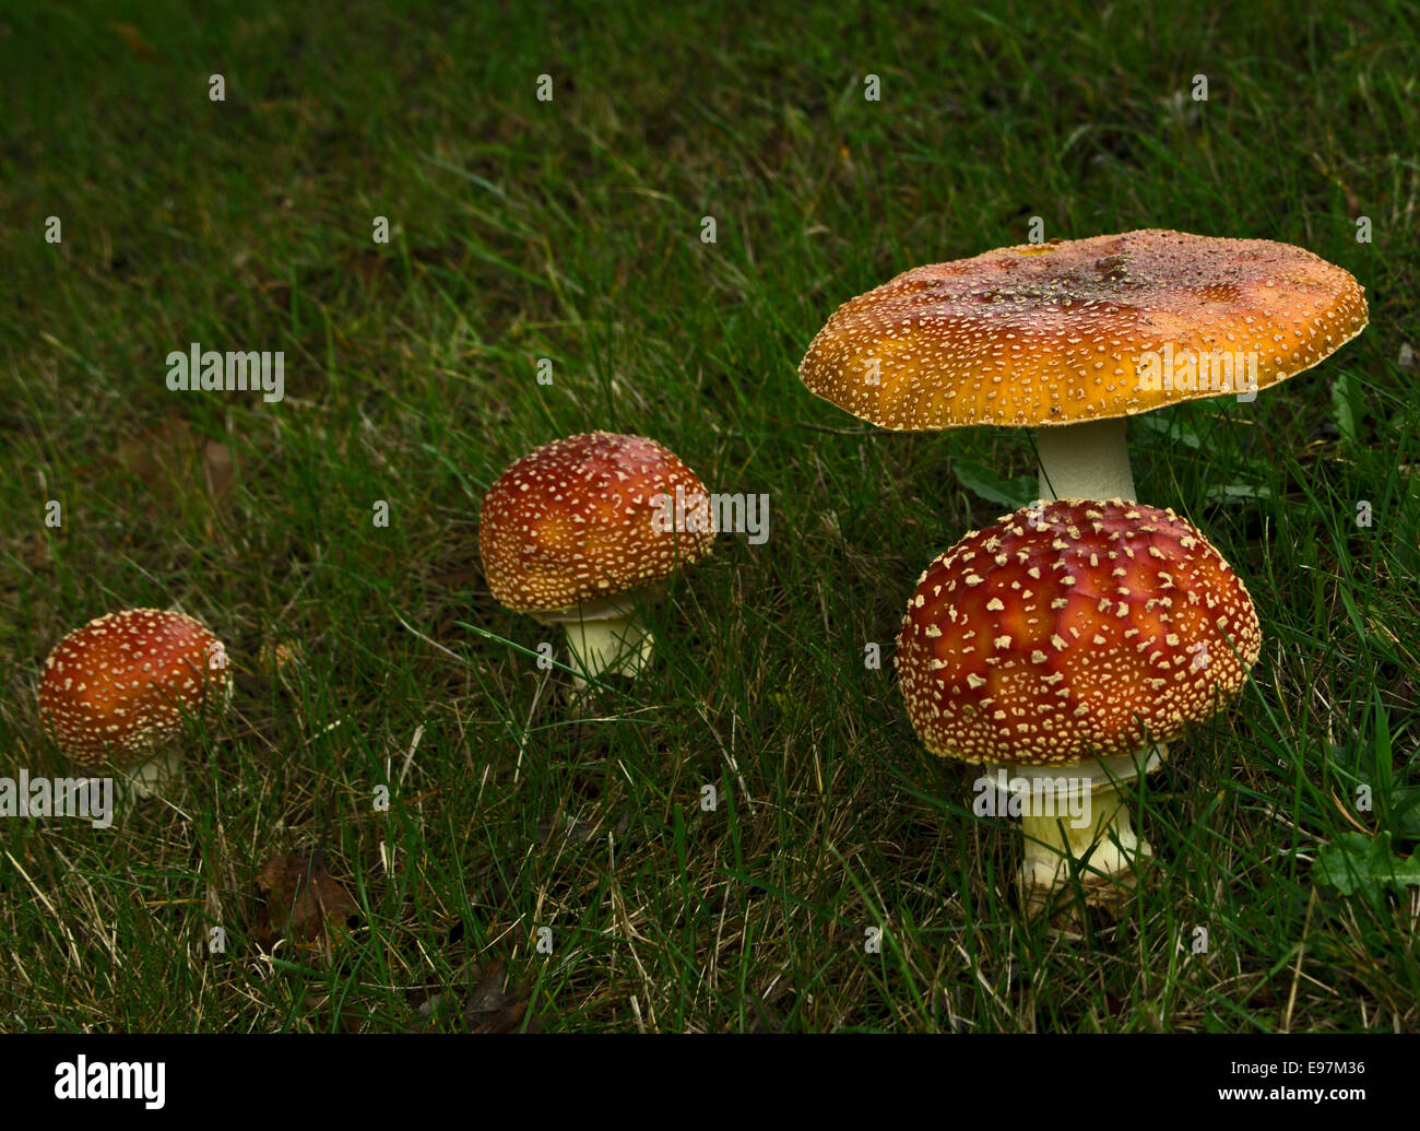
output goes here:
<path id="1" fill-rule="evenodd" d="M 663 580 L 714 544 L 713 530 L 674 529 L 677 489 L 709 513 L 699 476 L 645 436 L 588 432 L 530 452 L 483 499 L 488 588 L 517 612 L 555 612 Z"/>

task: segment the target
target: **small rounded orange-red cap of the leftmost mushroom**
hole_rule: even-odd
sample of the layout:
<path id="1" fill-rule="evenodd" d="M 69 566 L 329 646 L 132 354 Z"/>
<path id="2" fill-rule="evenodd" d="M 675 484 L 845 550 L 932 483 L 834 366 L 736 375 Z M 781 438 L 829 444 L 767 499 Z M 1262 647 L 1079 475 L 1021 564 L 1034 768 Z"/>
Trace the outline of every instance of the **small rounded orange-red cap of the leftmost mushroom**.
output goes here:
<path id="1" fill-rule="evenodd" d="M 183 713 L 226 709 L 226 652 L 192 617 L 109 612 L 61 639 L 40 678 L 40 716 L 60 750 L 85 766 L 145 760 L 182 730 Z"/>

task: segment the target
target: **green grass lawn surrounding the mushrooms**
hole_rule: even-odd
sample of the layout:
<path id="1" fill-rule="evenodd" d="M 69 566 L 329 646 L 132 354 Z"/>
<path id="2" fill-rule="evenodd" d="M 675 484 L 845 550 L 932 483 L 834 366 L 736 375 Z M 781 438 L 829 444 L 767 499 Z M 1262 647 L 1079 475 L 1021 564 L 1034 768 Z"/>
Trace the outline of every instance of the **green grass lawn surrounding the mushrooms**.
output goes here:
<path id="1" fill-rule="evenodd" d="M 1420 1029 L 1416 889 L 1314 877 L 1358 827 L 1420 837 L 1414 4 L 31 7 L 0 20 L 0 773 L 50 764 L 40 666 L 109 610 L 202 618 L 236 696 L 172 804 L 0 821 L 0 1030 L 457 1029 L 419 1003 L 493 962 L 555 1030 Z M 795 378 L 838 303 L 1032 216 L 1298 243 L 1372 318 L 1130 429 L 1265 645 L 1139 801 L 1150 884 L 1076 931 L 1021 915 L 1018 828 L 927 764 L 890 664 L 920 570 L 1001 513 L 954 466 L 1028 475 L 1027 435 L 889 435 Z M 169 392 L 190 341 L 285 351 L 285 401 Z M 595 699 L 477 556 L 498 472 L 594 428 L 771 506 Z M 169 442 L 224 445 L 230 489 L 156 472 Z M 359 921 L 267 955 L 256 877 L 317 845 Z"/>

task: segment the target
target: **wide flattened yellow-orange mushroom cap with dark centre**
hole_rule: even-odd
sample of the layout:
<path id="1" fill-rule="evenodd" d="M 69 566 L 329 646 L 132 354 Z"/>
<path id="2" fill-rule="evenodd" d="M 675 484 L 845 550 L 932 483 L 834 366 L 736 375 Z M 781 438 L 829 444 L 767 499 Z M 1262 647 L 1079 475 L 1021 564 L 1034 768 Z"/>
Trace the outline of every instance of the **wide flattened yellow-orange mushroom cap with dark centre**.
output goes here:
<path id="1" fill-rule="evenodd" d="M 1301 247 L 1142 230 L 1025 243 L 906 271 L 849 300 L 799 378 L 879 428 L 1037 428 L 1228 392 L 1152 368 L 1172 347 L 1257 388 L 1309 369 L 1366 327 L 1366 293 Z M 1186 355 L 1184 351 L 1193 351 Z M 1223 369 L 1230 372 L 1228 368 Z"/>

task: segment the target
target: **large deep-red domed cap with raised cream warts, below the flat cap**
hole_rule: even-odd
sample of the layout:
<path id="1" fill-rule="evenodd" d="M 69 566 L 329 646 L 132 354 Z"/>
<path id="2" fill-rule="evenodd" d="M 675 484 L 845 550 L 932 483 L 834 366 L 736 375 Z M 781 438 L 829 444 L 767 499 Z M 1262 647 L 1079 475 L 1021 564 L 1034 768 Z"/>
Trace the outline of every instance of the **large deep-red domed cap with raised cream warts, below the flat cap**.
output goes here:
<path id="1" fill-rule="evenodd" d="M 896 666 L 932 753 L 1071 764 L 1207 719 L 1261 646 L 1247 587 L 1172 510 L 1058 499 L 927 567 Z"/>

